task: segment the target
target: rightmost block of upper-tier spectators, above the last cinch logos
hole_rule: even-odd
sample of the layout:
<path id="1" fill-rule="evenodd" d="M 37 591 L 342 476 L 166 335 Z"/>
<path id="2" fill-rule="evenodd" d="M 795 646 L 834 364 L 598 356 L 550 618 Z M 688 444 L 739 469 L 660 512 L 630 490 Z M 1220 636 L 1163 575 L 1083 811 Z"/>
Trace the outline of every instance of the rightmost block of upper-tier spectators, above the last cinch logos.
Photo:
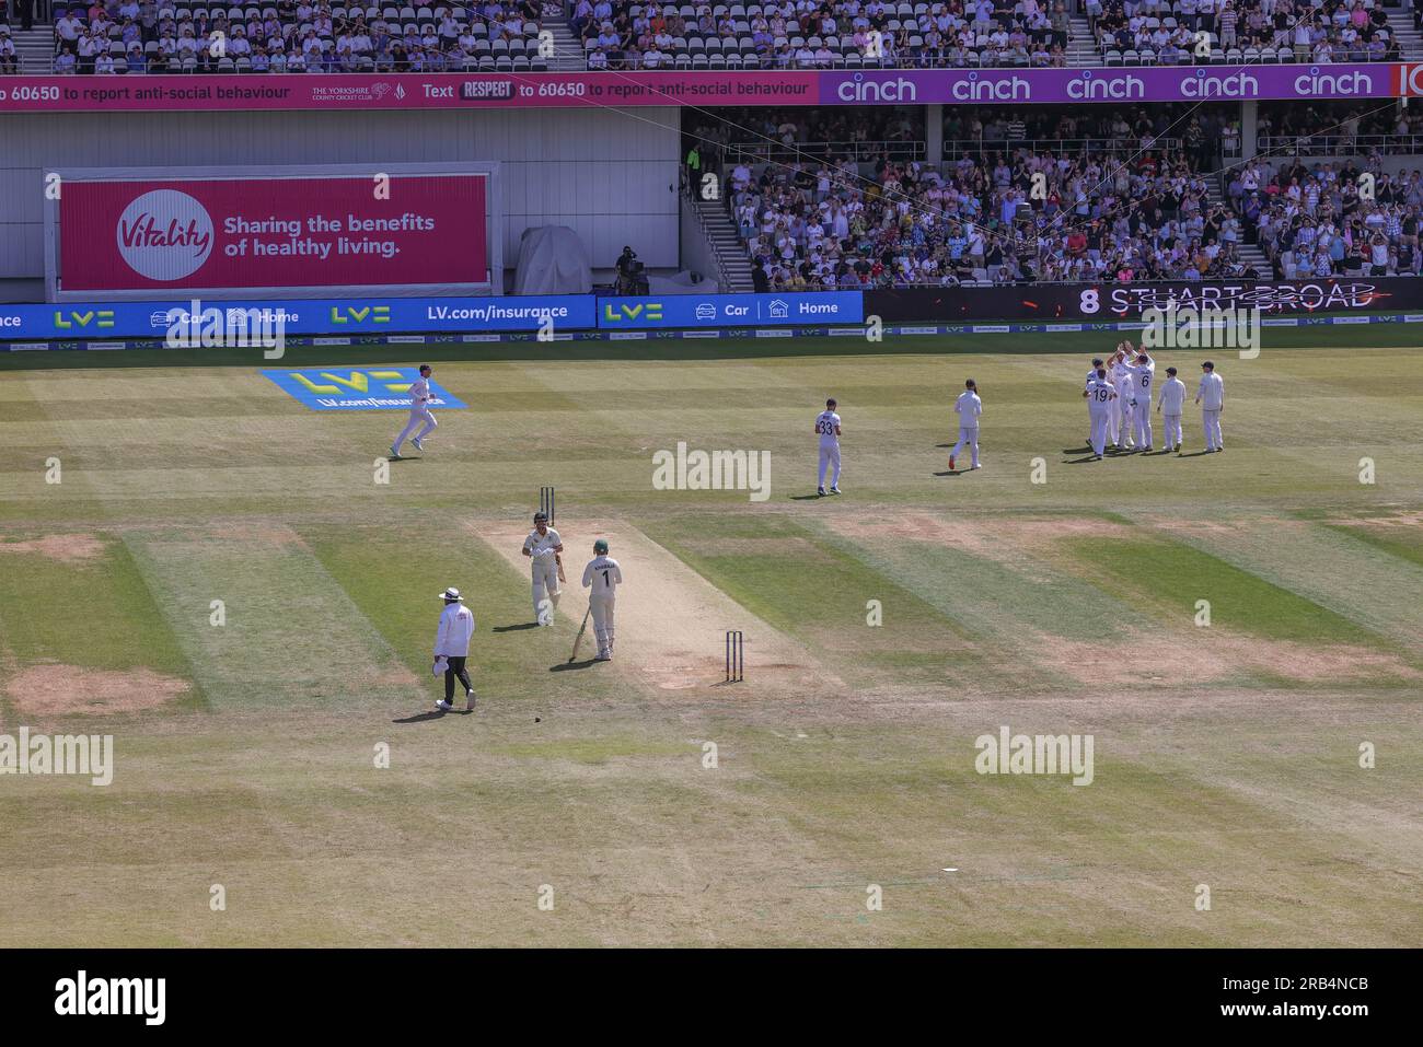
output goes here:
<path id="1" fill-rule="evenodd" d="M 1087 0 L 1104 60 L 1397 61 L 1382 0 Z"/>

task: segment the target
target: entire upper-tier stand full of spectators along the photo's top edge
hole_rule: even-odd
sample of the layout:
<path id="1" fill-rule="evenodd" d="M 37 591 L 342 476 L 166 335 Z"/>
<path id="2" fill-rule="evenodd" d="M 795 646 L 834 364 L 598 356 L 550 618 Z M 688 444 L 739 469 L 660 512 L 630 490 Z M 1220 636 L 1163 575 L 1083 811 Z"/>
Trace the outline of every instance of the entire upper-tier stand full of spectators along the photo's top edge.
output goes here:
<path id="1" fill-rule="evenodd" d="M 53 48 L 58 73 L 517 73 L 1382 61 L 1410 57 L 1419 38 L 1417 13 L 1410 26 L 1380 0 L 1084 0 L 1074 11 L 1077 6 L 572 0 L 565 10 L 555 0 L 418 7 L 94 0 L 55 6 Z M 544 28 L 549 36 L 541 41 Z M 24 48 L 38 47 L 50 31 L 0 44 L 0 68 L 21 71 Z"/>

